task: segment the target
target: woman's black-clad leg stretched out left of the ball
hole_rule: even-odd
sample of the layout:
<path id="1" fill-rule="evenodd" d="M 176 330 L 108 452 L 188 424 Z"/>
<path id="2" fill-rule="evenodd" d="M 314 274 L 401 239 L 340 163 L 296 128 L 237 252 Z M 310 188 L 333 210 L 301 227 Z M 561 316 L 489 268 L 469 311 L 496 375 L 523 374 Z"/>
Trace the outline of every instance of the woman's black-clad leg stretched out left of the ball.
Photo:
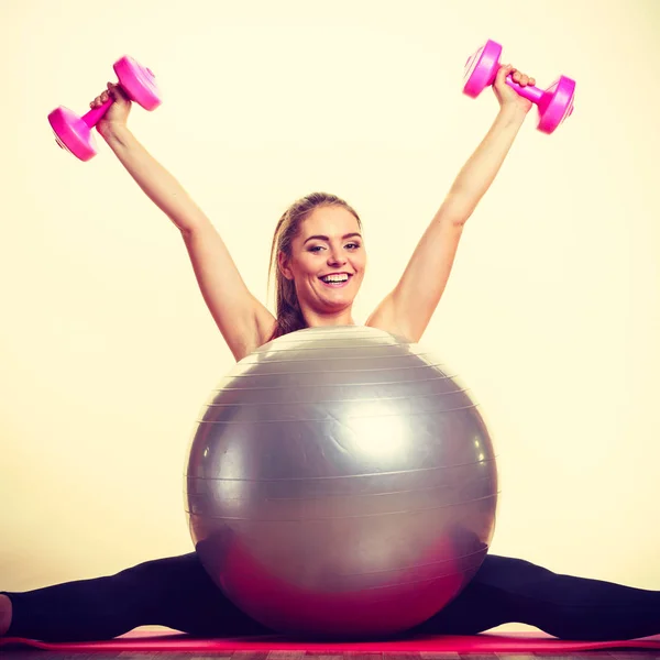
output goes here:
<path id="1" fill-rule="evenodd" d="M 199 637 L 268 632 L 232 605 L 191 552 L 116 575 L 3 592 L 12 603 L 8 636 L 44 641 L 111 639 L 161 625 Z"/>

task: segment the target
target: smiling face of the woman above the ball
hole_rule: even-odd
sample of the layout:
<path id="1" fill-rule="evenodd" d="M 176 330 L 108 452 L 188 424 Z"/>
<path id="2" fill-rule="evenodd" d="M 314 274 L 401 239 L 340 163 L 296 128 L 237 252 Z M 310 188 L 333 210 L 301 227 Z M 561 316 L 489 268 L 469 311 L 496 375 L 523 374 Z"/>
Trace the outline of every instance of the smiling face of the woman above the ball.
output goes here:
<path id="1" fill-rule="evenodd" d="M 320 207 L 300 224 L 284 260 L 285 277 L 294 279 L 300 306 L 337 314 L 350 308 L 362 284 L 366 253 L 353 213 Z"/>

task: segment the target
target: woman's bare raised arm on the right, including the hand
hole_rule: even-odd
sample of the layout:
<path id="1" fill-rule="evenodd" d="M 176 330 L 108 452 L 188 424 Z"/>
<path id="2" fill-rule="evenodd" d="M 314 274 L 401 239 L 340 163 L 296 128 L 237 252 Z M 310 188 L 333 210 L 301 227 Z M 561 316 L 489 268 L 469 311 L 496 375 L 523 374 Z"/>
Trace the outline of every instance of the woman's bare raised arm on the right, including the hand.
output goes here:
<path id="1" fill-rule="evenodd" d="M 499 69 L 494 86 L 501 103 L 499 113 L 457 176 L 398 284 L 369 318 L 367 326 L 402 334 L 411 341 L 419 341 L 424 334 L 447 286 L 463 226 L 491 187 L 531 107 L 505 84 L 512 70 L 520 85 L 534 85 L 534 78 L 510 66 Z"/>

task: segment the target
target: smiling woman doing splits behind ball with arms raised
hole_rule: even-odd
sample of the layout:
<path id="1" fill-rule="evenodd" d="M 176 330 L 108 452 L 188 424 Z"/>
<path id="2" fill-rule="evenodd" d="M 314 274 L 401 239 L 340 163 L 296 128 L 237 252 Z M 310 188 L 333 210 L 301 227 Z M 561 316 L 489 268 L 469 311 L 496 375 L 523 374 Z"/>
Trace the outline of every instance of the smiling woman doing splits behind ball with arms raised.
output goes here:
<path id="1" fill-rule="evenodd" d="M 505 82 L 534 78 L 499 69 L 499 113 L 460 172 L 395 289 L 366 321 L 418 341 L 440 300 L 463 226 L 491 186 L 531 103 Z M 294 330 L 352 324 L 352 305 L 366 264 L 361 222 L 343 200 L 324 194 L 294 204 L 273 241 L 277 317 L 245 287 L 224 243 L 179 184 L 127 128 L 121 90 L 99 130 L 148 197 L 182 232 L 204 298 L 234 358 Z M 468 587 L 413 632 L 472 635 L 504 623 L 537 626 L 563 639 L 631 639 L 660 632 L 660 592 L 558 575 L 528 562 L 486 557 Z M 146 562 L 117 575 L 0 595 L 0 635 L 43 640 L 109 639 L 142 625 L 196 636 L 270 632 L 215 586 L 196 553 Z"/>

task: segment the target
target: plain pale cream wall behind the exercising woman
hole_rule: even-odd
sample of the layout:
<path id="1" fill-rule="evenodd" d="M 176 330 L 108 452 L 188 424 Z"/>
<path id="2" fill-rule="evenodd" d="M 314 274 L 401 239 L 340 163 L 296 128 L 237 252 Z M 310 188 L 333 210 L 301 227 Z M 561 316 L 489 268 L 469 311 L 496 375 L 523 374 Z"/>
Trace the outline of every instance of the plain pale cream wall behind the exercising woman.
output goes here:
<path id="1" fill-rule="evenodd" d="M 659 33 L 657 0 L 3 0 L 0 588 L 189 551 L 191 422 L 232 362 L 176 229 L 47 112 L 135 56 L 165 102 L 133 130 L 255 294 L 290 201 L 355 206 L 363 320 L 495 116 L 460 91 L 493 37 L 541 86 L 576 78 L 576 108 L 551 136 L 530 114 L 422 343 L 492 426 L 493 551 L 660 590 Z"/>

